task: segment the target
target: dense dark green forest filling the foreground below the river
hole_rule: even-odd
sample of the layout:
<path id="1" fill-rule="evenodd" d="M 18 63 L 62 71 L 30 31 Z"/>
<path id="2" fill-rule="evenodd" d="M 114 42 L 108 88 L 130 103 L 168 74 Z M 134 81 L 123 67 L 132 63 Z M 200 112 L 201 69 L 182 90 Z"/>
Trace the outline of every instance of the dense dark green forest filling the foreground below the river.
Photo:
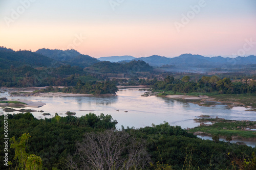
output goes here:
<path id="1" fill-rule="evenodd" d="M 4 116 L 1 137 L 4 138 Z M 110 115 L 93 113 L 81 117 L 36 119 L 31 113 L 8 114 L 10 169 L 20 166 L 14 159 L 15 145 L 27 137 L 23 154 L 40 158 L 43 169 L 255 169 L 255 148 L 202 140 L 168 123 L 115 130 Z M 24 134 L 26 133 L 26 134 Z M 31 137 L 30 137 L 31 136 Z M 112 147 L 109 147 L 111 146 Z M 19 145 L 19 147 L 22 145 Z M 4 145 L 0 146 L 1 155 Z M 108 150 L 105 150 L 108 148 Z M 113 150 L 112 150 L 113 149 Z M 100 153 L 100 154 L 98 154 Z M 105 154 L 106 155 L 105 155 Z M 107 153 L 111 153 L 108 155 Z M 104 159 L 106 157 L 107 159 Z M 119 160 L 118 162 L 112 162 Z M 25 160 L 27 161 L 27 160 Z M 40 163 L 40 162 L 39 162 Z M 28 165 L 29 163 L 27 163 Z M 1 169 L 6 167 L 3 163 Z M 26 164 L 21 164 L 26 166 Z M 101 168 L 99 168 L 101 167 Z"/>

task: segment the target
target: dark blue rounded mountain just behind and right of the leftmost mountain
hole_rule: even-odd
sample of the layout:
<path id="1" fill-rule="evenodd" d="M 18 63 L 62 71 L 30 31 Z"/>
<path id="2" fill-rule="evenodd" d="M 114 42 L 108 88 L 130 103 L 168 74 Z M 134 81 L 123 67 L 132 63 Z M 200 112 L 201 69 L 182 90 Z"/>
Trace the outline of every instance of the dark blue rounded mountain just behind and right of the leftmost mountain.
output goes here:
<path id="1" fill-rule="evenodd" d="M 47 56 L 51 59 L 65 62 L 66 64 L 76 65 L 80 67 L 87 67 L 92 64 L 99 62 L 96 58 L 93 58 L 88 55 L 83 55 L 77 52 L 76 50 L 50 50 L 46 48 L 41 48 L 35 53 Z"/>

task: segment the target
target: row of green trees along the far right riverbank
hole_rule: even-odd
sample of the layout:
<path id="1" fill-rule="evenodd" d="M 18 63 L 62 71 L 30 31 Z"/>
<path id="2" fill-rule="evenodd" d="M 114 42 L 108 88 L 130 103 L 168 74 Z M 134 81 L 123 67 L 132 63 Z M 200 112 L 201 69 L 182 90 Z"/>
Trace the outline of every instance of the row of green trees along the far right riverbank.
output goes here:
<path id="1" fill-rule="evenodd" d="M 220 79 L 217 76 L 203 76 L 197 82 L 190 80 L 189 76 L 184 76 L 181 80 L 167 76 L 163 81 L 157 81 L 153 85 L 155 90 L 173 91 L 181 93 L 191 92 L 218 92 L 220 94 L 243 94 L 256 93 L 256 82 L 231 82 L 229 78 Z"/>

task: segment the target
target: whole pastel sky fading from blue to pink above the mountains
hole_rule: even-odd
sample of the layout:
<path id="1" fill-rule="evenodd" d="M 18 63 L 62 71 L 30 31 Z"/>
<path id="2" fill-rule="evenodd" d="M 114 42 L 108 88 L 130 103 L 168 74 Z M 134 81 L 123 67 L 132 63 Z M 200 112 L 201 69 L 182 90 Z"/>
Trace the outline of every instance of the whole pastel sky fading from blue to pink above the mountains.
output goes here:
<path id="1" fill-rule="evenodd" d="M 0 0 L 0 46 L 96 58 L 256 55 L 256 1 Z"/>

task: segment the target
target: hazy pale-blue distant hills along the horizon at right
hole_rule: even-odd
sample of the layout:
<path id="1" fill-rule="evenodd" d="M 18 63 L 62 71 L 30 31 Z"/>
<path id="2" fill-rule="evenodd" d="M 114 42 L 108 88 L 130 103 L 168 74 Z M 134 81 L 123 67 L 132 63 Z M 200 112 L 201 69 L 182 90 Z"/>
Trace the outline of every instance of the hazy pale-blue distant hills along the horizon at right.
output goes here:
<path id="1" fill-rule="evenodd" d="M 220 67 L 223 65 L 230 66 L 256 64 L 256 56 L 224 58 L 221 56 L 204 57 L 201 55 L 182 54 L 174 58 L 154 55 L 150 57 L 135 58 L 133 60 L 142 60 L 152 66 L 162 66 L 168 64 L 180 67 Z M 129 62 L 129 60 L 124 61 Z"/>

